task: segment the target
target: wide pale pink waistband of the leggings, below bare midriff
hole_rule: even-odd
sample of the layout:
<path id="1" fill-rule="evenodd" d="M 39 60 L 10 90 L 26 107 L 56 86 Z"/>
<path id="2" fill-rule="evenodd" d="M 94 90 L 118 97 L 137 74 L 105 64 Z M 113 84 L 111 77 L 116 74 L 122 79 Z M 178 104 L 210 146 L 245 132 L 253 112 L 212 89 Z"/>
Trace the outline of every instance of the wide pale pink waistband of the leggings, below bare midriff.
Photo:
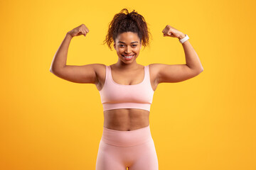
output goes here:
<path id="1" fill-rule="evenodd" d="M 103 127 L 101 140 L 118 147 L 132 147 L 149 142 L 152 137 L 149 125 L 145 128 L 130 131 L 111 130 Z"/>

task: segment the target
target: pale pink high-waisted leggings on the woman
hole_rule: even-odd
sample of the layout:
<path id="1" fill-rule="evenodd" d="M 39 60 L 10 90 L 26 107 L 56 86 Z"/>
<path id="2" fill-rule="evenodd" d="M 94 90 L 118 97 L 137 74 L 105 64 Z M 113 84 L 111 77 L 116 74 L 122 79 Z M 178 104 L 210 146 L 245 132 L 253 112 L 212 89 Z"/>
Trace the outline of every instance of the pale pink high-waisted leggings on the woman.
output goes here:
<path id="1" fill-rule="evenodd" d="M 96 170 L 158 170 L 154 141 L 149 125 L 131 131 L 103 127 Z"/>

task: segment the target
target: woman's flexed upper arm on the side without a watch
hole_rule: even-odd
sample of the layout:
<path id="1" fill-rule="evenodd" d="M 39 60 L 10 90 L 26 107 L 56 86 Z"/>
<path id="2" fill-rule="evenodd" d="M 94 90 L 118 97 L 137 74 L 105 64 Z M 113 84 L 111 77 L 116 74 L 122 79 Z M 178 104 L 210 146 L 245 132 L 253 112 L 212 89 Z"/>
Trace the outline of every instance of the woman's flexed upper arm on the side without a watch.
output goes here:
<path id="1" fill-rule="evenodd" d="M 96 84 L 97 74 L 95 72 L 97 64 L 87 64 L 82 66 L 66 65 L 62 69 L 55 70 L 53 74 L 61 79 L 81 84 Z"/>

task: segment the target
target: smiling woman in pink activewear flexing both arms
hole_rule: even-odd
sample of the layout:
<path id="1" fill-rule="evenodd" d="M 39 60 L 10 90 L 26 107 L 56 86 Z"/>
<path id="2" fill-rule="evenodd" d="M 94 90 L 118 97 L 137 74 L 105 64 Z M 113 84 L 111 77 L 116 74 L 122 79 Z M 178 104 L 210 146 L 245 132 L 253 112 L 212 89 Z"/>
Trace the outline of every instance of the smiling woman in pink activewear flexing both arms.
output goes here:
<path id="1" fill-rule="evenodd" d="M 137 64 L 142 45 L 149 45 L 150 33 L 143 16 L 124 8 L 114 16 L 105 39 L 110 49 L 114 42 L 117 63 L 66 65 L 70 40 L 87 33 L 89 29 L 82 24 L 66 34 L 50 72 L 68 81 L 95 84 L 100 91 L 104 126 L 96 170 L 159 169 L 149 128 L 149 111 L 156 86 L 191 79 L 203 71 L 188 35 L 169 25 L 162 31 L 164 36 L 180 40 L 186 64 Z"/>

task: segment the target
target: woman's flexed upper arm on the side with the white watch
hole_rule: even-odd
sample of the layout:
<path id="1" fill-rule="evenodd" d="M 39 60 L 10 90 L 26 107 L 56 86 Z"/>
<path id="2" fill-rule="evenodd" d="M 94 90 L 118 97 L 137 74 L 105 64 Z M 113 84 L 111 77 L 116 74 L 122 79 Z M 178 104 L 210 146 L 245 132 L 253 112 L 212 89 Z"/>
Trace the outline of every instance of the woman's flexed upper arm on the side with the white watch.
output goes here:
<path id="1" fill-rule="evenodd" d="M 199 73 L 186 64 L 158 64 L 158 83 L 176 83 L 196 77 Z"/>

